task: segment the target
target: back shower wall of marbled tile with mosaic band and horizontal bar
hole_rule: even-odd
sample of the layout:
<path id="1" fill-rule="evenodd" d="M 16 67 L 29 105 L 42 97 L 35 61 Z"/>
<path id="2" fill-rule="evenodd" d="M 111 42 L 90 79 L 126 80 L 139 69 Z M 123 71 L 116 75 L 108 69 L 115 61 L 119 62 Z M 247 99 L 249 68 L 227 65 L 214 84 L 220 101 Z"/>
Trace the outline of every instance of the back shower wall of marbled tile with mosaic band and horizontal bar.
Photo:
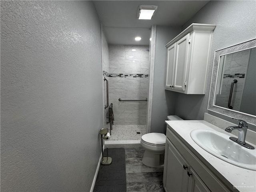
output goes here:
<path id="1" fill-rule="evenodd" d="M 115 125 L 145 125 L 149 89 L 149 46 L 109 45 L 109 102 L 113 103 Z M 136 51 L 132 51 L 136 50 Z"/>

